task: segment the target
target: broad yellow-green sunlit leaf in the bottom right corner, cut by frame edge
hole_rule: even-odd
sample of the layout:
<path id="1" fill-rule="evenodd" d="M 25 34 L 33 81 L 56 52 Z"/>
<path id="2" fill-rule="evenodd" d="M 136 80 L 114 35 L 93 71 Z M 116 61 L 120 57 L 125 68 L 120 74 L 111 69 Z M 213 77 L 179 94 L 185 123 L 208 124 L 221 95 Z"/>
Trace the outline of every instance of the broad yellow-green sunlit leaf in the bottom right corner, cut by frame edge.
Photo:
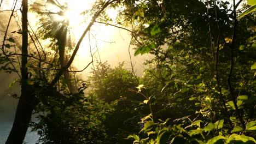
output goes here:
<path id="1" fill-rule="evenodd" d="M 237 135 L 237 134 L 232 134 L 229 136 L 228 140 L 226 141 L 226 144 L 234 144 L 234 143 L 251 143 L 256 141 L 253 139 L 253 137 L 245 136 L 245 135 Z"/>

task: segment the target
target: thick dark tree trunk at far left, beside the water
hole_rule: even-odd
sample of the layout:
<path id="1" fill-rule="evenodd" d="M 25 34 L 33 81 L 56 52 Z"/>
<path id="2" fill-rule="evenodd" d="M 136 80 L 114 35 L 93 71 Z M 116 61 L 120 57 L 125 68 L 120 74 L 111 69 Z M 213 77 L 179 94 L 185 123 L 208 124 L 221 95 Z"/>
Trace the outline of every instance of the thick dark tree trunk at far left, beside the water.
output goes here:
<path id="1" fill-rule="evenodd" d="M 30 123 L 33 107 L 33 88 L 27 85 L 27 0 L 22 1 L 22 57 L 21 57 L 21 96 L 15 113 L 13 128 L 11 128 L 5 143 L 22 144 L 24 141 L 28 124 Z"/>

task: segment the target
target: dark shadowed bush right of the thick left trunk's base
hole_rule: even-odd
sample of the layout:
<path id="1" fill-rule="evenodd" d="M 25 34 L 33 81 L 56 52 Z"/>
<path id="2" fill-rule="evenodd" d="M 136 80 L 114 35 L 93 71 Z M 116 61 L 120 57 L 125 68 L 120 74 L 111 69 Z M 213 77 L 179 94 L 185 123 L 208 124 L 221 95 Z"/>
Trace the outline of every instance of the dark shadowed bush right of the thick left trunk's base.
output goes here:
<path id="1" fill-rule="evenodd" d="M 85 87 L 75 94 L 55 92 L 54 97 L 42 97 L 36 107 L 39 123 L 31 123 L 43 143 L 104 143 L 106 130 L 103 122 L 113 108 L 85 97 Z"/>

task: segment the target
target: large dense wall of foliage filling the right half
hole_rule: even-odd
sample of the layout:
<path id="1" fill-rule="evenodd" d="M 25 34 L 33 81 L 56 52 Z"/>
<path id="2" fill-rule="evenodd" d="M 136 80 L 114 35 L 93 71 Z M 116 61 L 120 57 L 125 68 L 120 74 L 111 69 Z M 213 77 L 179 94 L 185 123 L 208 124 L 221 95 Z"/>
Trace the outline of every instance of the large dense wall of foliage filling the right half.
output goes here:
<path id="1" fill-rule="evenodd" d="M 128 3 L 144 14 L 128 15 L 137 34 L 135 55 L 155 56 L 146 63 L 141 83 L 152 97 L 152 119 L 141 129 L 148 136 L 128 138 L 133 143 L 254 143 L 255 133 L 246 127 L 255 122 L 255 16 L 248 13 L 238 21 L 223 1 Z M 222 128 L 215 128 L 216 122 Z"/>

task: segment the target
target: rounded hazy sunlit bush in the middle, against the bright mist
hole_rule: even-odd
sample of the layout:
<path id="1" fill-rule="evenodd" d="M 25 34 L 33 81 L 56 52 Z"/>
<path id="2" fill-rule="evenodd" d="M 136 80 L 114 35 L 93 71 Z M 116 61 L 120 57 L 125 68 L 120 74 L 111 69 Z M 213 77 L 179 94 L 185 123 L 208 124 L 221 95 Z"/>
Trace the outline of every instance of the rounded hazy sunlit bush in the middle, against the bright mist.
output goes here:
<path id="1" fill-rule="evenodd" d="M 138 78 L 124 68 L 124 63 L 111 68 L 107 62 L 97 62 L 91 74 L 87 84 L 91 88 L 89 93 L 95 94 L 107 103 L 122 97 L 136 99 L 135 94 L 128 89 L 138 85 Z"/>

